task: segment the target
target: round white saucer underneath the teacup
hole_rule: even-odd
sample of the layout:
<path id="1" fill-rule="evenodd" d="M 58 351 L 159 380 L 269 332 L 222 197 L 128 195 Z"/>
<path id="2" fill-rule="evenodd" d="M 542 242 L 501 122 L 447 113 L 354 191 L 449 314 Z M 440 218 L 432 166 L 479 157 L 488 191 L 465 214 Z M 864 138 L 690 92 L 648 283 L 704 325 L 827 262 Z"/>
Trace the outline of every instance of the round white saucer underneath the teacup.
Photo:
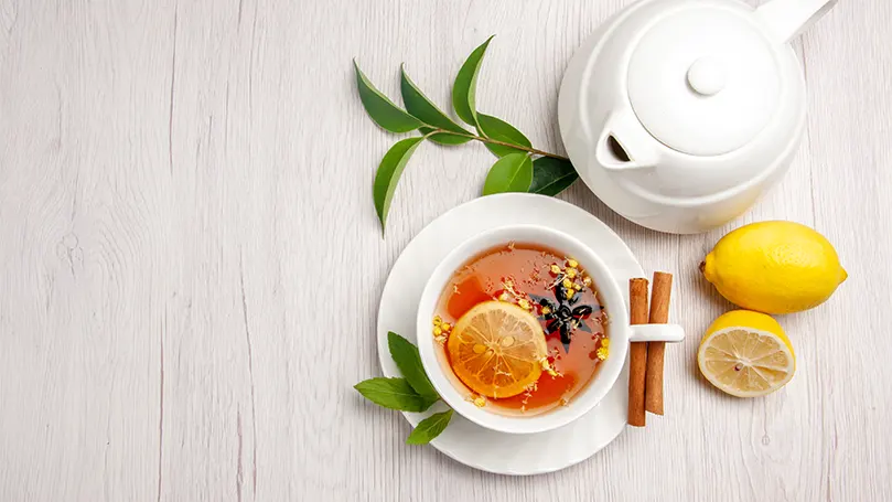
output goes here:
<path id="1" fill-rule="evenodd" d="M 387 332 L 416 342 L 418 299 L 437 264 L 459 243 L 480 232 L 503 225 L 548 225 L 591 246 L 611 267 L 627 298 L 628 279 L 644 271 L 632 250 L 603 222 L 585 211 L 554 197 L 508 193 L 475 199 L 443 214 L 406 246 L 390 269 L 378 310 L 378 357 L 386 376 L 400 376 L 387 349 Z M 552 472 L 588 459 L 623 431 L 628 403 L 628 364 L 616 385 L 590 413 L 559 429 L 534 435 L 511 435 L 484 429 L 453 415 L 449 427 L 431 445 L 466 466 L 498 474 L 527 476 Z M 426 413 L 404 413 L 415 427 Z"/>

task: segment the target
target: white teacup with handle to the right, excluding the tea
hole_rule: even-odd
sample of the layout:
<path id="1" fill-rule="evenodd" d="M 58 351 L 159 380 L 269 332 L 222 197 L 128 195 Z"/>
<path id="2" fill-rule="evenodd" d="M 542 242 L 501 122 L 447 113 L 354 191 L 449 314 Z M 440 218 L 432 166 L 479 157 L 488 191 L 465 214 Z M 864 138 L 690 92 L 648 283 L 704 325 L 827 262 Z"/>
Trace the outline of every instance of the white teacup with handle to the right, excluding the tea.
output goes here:
<path id="1" fill-rule="evenodd" d="M 592 382 L 582 388 L 566 406 L 535 416 L 497 415 L 480 408 L 466 399 L 468 392 L 456 387 L 456 377 L 441 363 L 442 350 L 431 334 L 431 320 L 440 296 L 453 274 L 481 253 L 508 243 L 538 244 L 573 257 L 594 281 L 598 298 L 608 312 L 610 356 L 600 363 Z M 509 434 L 534 434 L 565 426 L 590 412 L 616 383 L 630 342 L 680 342 L 685 331 L 677 324 L 630 325 L 628 308 L 616 278 L 598 254 L 574 237 L 545 226 L 511 225 L 477 234 L 453 249 L 437 266 L 428 279 L 418 306 L 418 351 L 424 371 L 445 403 L 469 420 L 488 429 Z M 449 372 L 449 374 L 447 373 Z"/>

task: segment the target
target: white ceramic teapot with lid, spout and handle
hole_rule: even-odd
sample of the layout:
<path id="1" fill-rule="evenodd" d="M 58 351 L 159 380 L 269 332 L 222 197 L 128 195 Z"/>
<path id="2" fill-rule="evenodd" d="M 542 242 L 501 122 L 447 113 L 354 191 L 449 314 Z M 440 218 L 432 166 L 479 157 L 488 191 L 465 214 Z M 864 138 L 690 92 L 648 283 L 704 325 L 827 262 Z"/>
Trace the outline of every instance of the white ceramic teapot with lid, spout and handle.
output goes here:
<path id="1" fill-rule="evenodd" d="M 750 209 L 805 130 L 789 41 L 837 0 L 642 0 L 572 57 L 561 137 L 611 209 L 660 232 L 698 233 Z"/>

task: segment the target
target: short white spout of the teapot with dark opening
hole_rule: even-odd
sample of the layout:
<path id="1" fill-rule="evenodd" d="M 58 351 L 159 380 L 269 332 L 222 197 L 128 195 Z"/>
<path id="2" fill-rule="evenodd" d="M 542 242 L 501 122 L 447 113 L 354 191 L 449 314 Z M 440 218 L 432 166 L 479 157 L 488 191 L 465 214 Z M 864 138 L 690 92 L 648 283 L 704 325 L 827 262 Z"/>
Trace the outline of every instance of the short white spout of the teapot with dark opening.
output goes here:
<path id="1" fill-rule="evenodd" d="M 595 145 L 594 158 L 611 171 L 646 169 L 657 164 L 653 137 L 631 108 L 613 111 Z"/>

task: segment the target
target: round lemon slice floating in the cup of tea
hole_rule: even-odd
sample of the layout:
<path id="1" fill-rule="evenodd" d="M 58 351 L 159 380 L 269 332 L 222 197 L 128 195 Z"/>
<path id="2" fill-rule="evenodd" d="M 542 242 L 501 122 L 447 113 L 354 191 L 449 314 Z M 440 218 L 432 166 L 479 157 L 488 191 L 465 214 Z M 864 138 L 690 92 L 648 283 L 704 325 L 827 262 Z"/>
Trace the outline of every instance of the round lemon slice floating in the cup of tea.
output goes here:
<path id="1" fill-rule="evenodd" d="M 462 316 L 447 351 L 455 376 L 486 397 L 523 393 L 539 380 L 548 355 L 539 321 L 504 301 L 477 303 Z"/>

